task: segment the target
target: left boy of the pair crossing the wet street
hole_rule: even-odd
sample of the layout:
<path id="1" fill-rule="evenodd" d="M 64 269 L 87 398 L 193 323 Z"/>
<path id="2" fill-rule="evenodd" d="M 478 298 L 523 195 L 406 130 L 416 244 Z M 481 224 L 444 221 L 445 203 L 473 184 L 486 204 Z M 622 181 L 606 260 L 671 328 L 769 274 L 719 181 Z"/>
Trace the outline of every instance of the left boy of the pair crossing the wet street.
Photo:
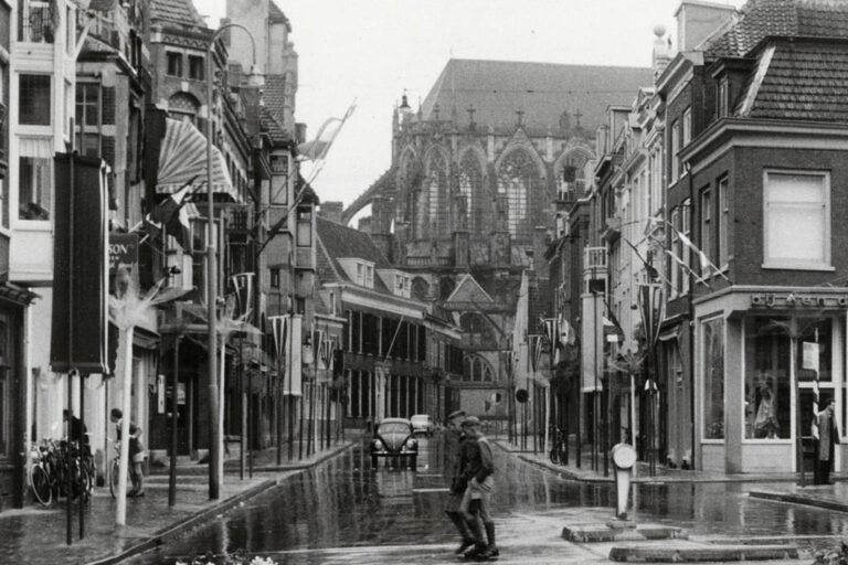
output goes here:
<path id="1" fill-rule="evenodd" d="M 465 489 L 468 486 L 463 477 L 463 469 L 469 459 L 469 450 L 477 448 L 477 443 L 468 438 L 462 429 L 465 419 L 464 411 L 456 411 L 447 417 L 447 431 L 445 433 L 445 472 L 451 482 L 451 491 L 445 503 L 445 514 L 454 523 L 459 532 L 462 542 L 456 550 L 456 555 L 463 555 L 465 551 L 474 545 L 474 534 L 468 529 L 465 518 L 459 510 L 465 495 Z"/>

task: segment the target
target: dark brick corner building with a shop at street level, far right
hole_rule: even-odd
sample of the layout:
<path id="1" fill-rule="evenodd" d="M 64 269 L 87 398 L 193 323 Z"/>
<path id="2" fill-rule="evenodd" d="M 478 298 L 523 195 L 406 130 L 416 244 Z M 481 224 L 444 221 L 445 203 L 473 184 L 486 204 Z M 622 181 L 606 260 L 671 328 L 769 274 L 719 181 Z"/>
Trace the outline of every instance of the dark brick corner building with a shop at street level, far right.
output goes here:
<path id="1" fill-rule="evenodd" d="M 701 50 L 678 151 L 702 254 L 689 295 L 699 468 L 809 468 L 816 383 L 846 424 L 846 21 L 841 4 L 751 1 Z"/>

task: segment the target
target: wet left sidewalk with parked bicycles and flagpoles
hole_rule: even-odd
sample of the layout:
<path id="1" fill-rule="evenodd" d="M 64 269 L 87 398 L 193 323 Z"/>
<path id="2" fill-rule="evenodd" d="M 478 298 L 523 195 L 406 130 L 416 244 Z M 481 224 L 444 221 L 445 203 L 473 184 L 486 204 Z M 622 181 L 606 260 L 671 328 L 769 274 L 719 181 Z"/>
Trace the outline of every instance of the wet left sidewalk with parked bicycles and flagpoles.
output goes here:
<path id="1" fill-rule="evenodd" d="M 108 487 L 95 488 L 85 510 L 86 536 L 80 540 L 80 509 L 74 507 L 73 545 L 65 544 L 64 501 L 50 508 L 28 507 L 0 513 L 0 563 L 28 565 L 117 563 L 144 552 L 191 527 L 225 512 L 287 479 L 288 477 L 333 457 L 353 445 L 339 443 L 309 459 L 296 461 L 283 471 L 254 475 L 240 481 L 237 475 L 226 473 L 219 500 L 208 497 L 205 466 L 202 476 L 180 477 L 177 504 L 168 507 L 167 475 L 146 478 L 145 498 L 127 501 L 127 526 L 116 530 L 115 501 Z M 166 469 L 167 471 L 167 469 Z M 256 468 L 254 468 L 256 471 Z M 258 471 L 257 471 L 258 472 Z M 237 473 L 237 461 L 236 461 Z"/>

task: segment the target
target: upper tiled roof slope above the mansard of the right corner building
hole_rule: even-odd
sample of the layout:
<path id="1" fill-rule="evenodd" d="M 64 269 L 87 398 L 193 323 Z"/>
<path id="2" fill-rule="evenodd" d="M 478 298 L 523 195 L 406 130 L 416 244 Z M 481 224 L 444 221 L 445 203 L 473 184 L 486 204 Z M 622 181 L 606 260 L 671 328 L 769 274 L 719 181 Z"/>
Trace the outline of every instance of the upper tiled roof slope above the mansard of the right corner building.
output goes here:
<path id="1" fill-rule="evenodd" d="M 770 35 L 848 38 L 848 3 L 840 0 L 749 0 L 734 24 L 708 40 L 708 56 L 742 56 Z"/>

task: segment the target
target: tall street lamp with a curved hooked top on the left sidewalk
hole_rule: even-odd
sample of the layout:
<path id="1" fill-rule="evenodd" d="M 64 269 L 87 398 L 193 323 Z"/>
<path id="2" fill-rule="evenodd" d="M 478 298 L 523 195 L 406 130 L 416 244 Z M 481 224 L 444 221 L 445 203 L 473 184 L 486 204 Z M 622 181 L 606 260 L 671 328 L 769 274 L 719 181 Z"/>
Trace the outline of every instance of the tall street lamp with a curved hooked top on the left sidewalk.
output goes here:
<path id="1" fill-rule="evenodd" d="M 247 78 L 248 86 L 262 86 L 262 75 L 258 72 L 256 65 L 256 41 L 253 39 L 251 31 L 239 23 L 227 23 L 222 25 L 212 35 L 209 41 L 209 47 L 206 47 L 206 317 L 209 319 L 209 351 L 208 351 L 208 365 L 209 372 L 206 379 L 209 379 L 209 428 L 211 433 L 209 444 L 209 498 L 218 499 L 220 497 L 220 486 L 223 482 L 223 454 L 221 452 L 221 438 L 223 437 L 223 430 L 219 425 L 218 413 L 223 409 L 223 406 L 219 406 L 218 402 L 218 335 L 216 331 L 216 303 L 218 303 L 218 257 L 214 239 L 214 204 L 213 204 L 213 188 L 212 188 L 212 53 L 215 49 L 221 33 L 231 29 L 240 28 L 247 33 L 251 39 L 251 46 L 253 47 L 253 65 L 251 65 L 251 74 Z"/>

